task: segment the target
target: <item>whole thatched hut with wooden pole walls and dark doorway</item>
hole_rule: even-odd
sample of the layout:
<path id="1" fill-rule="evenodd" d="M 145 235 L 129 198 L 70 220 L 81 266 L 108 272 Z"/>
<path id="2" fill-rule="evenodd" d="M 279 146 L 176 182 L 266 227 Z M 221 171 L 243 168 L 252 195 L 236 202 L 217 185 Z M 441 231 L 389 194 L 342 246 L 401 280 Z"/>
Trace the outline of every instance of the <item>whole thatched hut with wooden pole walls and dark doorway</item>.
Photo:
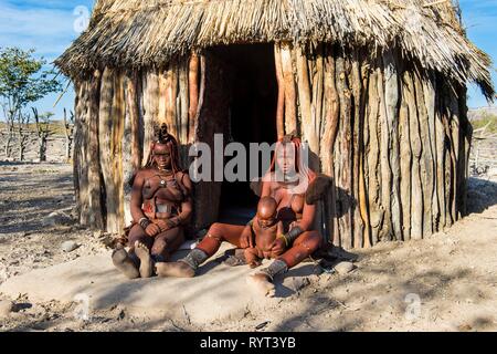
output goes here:
<path id="1" fill-rule="evenodd" d="M 81 222 L 113 232 L 166 122 L 183 163 L 213 133 L 297 131 L 334 177 L 316 221 L 328 239 L 423 238 L 466 212 L 466 83 L 494 94 L 490 60 L 448 0 L 97 0 L 56 64 L 76 90 Z M 246 185 L 198 184 L 195 228 Z"/>

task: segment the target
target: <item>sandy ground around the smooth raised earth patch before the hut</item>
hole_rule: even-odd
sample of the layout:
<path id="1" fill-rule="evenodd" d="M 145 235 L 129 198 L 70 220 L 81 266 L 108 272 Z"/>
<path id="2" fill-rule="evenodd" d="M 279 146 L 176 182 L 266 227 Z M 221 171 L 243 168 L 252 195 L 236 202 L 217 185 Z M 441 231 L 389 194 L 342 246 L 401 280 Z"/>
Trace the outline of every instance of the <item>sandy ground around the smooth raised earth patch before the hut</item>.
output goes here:
<path id="1" fill-rule="evenodd" d="M 150 320 L 116 305 L 85 321 L 76 303 L 34 303 L 20 294 L 9 299 L 13 311 L 0 317 L 0 331 L 496 331 L 497 176 L 472 179 L 469 198 L 472 214 L 451 229 L 355 251 L 355 271 L 303 279 L 272 313 L 247 310 L 197 326 L 188 314 Z M 108 251 L 107 235 L 75 223 L 43 227 L 52 211 L 71 215 L 73 205 L 70 166 L 0 163 L 0 282 Z M 64 252 L 67 240 L 80 247 Z"/>

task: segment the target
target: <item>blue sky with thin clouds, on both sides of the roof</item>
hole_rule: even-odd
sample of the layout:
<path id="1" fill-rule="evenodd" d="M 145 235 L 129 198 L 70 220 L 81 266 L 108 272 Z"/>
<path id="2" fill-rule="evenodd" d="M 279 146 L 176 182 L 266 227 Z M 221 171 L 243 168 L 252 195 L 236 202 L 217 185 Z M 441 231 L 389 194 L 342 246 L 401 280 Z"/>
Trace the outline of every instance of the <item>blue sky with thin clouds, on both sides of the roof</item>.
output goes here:
<path id="1" fill-rule="evenodd" d="M 144 0 L 146 1 L 146 0 Z M 34 48 L 38 56 L 49 62 L 57 58 L 77 38 L 75 23 L 81 21 L 77 7 L 92 9 L 93 0 L 0 0 L 0 46 Z M 497 62 L 497 0 L 461 0 L 469 39 Z M 494 82 L 497 73 L 494 65 Z M 469 107 L 487 105 L 474 86 L 469 86 Z M 35 105 L 40 112 L 61 116 L 64 107 L 72 108 L 74 92 L 70 90 L 53 108 L 57 95 L 51 95 Z"/>

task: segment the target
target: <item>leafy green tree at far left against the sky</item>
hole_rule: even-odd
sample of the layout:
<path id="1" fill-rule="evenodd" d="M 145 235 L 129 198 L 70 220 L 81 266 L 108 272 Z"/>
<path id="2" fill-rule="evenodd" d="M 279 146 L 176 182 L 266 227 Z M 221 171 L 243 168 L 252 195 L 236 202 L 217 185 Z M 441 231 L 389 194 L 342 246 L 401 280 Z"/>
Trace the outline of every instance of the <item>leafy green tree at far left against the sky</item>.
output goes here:
<path id="1" fill-rule="evenodd" d="M 10 157 L 14 122 L 22 121 L 23 108 L 62 88 L 55 72 L 43 69 L 46 61 L 33 54 L 33 49 L 0 48 L 0 105 L 8 127 L 7 157 Z"/>

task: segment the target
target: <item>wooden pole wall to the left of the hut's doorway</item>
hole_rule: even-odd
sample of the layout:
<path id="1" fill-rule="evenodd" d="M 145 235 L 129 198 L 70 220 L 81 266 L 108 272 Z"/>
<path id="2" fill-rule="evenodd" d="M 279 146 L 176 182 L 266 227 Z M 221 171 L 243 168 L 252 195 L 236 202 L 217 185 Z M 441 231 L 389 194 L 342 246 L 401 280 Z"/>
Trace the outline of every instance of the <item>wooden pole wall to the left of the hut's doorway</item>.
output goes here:
<path id="1" fill-rule="evenodd" d="M 200 63 L 195 55 L 165 70 L 106 67 L 75 84 L 74 187 L 82 225 L 113 233 L 129 225 L 129 181 L 148 159 L 155 124 L 168 124 L 181 145 L 181 167 L 188 167 L 201 106 Z"/>

